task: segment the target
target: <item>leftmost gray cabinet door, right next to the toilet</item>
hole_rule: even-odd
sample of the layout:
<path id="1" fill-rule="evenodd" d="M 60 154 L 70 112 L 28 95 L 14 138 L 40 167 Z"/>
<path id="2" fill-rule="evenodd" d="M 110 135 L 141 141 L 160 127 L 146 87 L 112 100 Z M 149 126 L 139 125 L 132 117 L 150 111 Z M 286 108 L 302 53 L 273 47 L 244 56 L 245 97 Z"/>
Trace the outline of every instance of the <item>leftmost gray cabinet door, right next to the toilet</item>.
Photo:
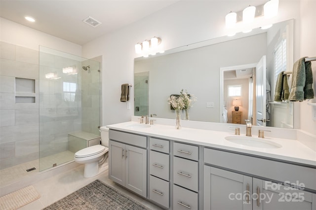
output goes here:
<path id="1" fill-rule="evenodd" d="M 109 141 L 109 177 L 125 185 L 125 144 Z"/>

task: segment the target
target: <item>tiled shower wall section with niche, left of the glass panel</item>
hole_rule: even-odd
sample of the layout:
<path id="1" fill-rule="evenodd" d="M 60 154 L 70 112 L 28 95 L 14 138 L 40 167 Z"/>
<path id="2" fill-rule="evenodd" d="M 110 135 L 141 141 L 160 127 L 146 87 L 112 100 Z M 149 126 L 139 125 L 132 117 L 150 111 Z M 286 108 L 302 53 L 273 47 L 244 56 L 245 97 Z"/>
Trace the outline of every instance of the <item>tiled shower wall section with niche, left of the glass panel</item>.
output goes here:
<path id="1" fill-rule="evenodd" d="M 3 169 L 39 158 L 39 51 L 0 42 L 0 53 L 0 169 Z M 15 93 L 16 78 L 27 79 L 19 82 L 20 93 Z M 35 84 L 34 90 L 28 87 L 29 82 Z M 15 103 L 15 96 L 31 96 L 35 103 Z"/>

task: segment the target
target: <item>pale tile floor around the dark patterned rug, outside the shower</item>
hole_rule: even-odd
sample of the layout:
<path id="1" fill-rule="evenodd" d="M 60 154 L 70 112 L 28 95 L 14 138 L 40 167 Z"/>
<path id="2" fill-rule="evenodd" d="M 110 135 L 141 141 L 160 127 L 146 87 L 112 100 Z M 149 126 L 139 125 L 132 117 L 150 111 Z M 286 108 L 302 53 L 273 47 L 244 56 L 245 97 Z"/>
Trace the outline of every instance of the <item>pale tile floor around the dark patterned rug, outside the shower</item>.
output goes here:
<path id="1" fill-rule="evenodd" d="M 33 186 L 40 193 L 40 199 L 22 207 L 20 210 L 40 210 L 50 204 L 58 201 L 59 199 L 75 192 L 79 188 L 91 183 L 92 181 L 99 179 L 104 183 L 118 189 L 125 195 L 133 198 L 134 200 L 140 202 L 141 204 L 147 206 L 152 210 L 161 210 L 158 206 L 150 203 L 149 201 L 143 199 L 142 197 L 129 192 L 128 190 L 115 184 L 112 180 L 108 178 L 108 170 L 103 170 L 102 173 L 91 178 L 83 177 L 83 165 L 72 170 L 66 171 L 62 174 L 55 175 L 53 177 L 47 178 L 45 180 L 39 181 Z"/>

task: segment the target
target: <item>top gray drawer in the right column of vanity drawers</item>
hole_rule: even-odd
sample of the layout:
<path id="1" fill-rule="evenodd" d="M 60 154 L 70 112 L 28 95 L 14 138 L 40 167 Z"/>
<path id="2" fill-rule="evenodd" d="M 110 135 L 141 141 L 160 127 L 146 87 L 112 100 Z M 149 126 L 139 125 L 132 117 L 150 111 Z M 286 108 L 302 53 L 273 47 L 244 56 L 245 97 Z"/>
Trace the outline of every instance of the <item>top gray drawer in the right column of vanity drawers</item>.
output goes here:
<path id="1" fill-rule="evenodd" d="M 198 161 L 198 147 L 184 143 L 173 143 L 173 155 Z"/>

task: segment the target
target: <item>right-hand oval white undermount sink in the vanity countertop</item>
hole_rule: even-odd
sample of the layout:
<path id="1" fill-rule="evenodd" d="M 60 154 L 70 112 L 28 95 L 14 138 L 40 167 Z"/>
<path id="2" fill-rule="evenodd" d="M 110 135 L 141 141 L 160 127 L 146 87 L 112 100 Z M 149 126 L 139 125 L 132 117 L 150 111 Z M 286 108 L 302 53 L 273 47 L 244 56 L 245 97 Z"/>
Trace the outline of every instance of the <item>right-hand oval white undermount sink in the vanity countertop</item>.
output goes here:
<path id="1" fill-rule="evenodd" d="M 253 138 L 253 137 L 229 136 L 229 137 L 225 137 L 225 139 L 236 144 L 259 147 L 259 148 L 276 149 L 276 148 L 282 147 L 282 145 L 276 142 L 265 140 L 265 139 Z"/>

